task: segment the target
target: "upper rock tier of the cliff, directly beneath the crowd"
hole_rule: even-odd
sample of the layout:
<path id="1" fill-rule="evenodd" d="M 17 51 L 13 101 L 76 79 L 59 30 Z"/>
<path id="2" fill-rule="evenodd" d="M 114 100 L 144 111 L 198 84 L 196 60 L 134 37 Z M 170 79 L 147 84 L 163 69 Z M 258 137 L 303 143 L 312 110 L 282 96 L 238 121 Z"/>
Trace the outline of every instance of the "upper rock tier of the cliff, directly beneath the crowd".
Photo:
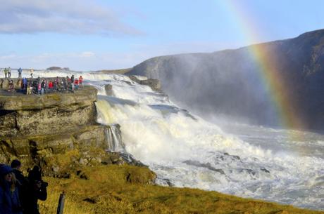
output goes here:
<path id="1" fill-rule="evenodd" d="M 0 97 L 0 136 L 46 135 L 92 125 L 96 120 L 96 89 L 75 93 Z"/>

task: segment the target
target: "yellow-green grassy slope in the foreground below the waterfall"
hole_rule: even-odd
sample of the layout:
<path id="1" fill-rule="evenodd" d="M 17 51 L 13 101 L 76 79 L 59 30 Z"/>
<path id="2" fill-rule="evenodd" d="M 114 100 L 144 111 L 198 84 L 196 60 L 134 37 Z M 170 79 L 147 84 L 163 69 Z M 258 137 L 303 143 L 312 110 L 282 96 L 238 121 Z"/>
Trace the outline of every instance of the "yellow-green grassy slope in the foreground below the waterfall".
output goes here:
<path id="1" fill-rule="evenodd" d="M 242 199 L 200 189 L 152 185 L 148 168 L 96 166 L 84 168 L 87 180 L 44 178 L 49 182 L 49 198 L 40 203 L 41 213 L 56 213 L 58 196 L 66 192 L 65 214 L 74 213 L 228 213 L 299 214 L 323 213 L 301 210 L 278 203 Z"/>

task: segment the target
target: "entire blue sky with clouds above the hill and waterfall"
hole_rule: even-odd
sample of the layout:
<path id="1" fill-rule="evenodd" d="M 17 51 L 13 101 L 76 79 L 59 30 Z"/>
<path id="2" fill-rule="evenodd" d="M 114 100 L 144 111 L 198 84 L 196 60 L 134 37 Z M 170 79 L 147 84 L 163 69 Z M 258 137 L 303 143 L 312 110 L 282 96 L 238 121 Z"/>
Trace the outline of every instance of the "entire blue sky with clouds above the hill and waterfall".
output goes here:
<path id="1" fill-rule="evenodd" d="M 118 69 L 158 55 L 239 48 L 324 28 L 320 0 L 0 4 L 0 67 Z"/>

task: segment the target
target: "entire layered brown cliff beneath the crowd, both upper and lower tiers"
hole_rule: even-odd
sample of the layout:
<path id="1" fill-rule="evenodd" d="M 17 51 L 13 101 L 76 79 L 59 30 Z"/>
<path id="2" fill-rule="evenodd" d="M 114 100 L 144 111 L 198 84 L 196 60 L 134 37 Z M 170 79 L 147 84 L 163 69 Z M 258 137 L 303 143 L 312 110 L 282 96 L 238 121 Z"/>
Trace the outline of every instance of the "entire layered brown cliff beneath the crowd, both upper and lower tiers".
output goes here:
<path id="1" fill-rule="evenodd" d="M 0 162 L 52 169 L 44 161 L 51 156 L 109 149 L 108 126 L 96 123 L 96 93 L 84 86 L 74 93 L 0 96 Z"/>

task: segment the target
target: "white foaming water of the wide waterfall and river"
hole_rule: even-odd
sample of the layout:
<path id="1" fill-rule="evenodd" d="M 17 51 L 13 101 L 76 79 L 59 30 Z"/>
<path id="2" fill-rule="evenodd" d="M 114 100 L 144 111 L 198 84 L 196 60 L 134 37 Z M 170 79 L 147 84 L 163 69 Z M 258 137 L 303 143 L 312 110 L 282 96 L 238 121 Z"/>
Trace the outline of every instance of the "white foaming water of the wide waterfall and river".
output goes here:
<path id="1" fill-rule="evenodd" d="M 42 71 L 34 76 L 70 74 Z M 113 147 L 147 164 L 158 184 L 324 210 L 323 135 L 235 123 L 220 128 L 127 76 L 82 76 L 99 90 L 98 121 L 120 124 L 124 145 Z M 113 95 L 106 95 L 106 84 L 113 86 Z M 119 142 L 113 131 L 110 135 Z"/>

